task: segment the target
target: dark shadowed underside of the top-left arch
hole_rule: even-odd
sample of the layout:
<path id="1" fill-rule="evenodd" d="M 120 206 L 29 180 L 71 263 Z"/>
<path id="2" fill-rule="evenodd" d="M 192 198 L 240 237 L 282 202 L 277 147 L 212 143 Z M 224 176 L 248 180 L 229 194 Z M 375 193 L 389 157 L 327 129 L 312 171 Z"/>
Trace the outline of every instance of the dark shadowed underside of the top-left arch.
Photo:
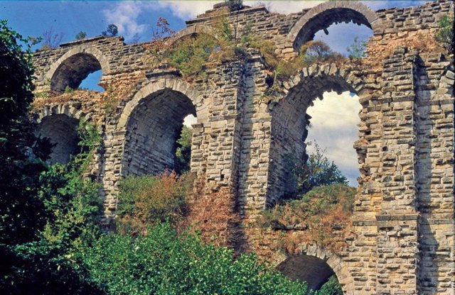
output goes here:
<path id="1" fill-rule="evenodd" d="M 96 57 L 87 53 L 78 53 L 68 57 L 58 67 L 50 79 L 50 89 L 57 94 L 63 93 L 67 86 L 77 89 L 82 80 L 100 69 L 101 64 Z"/>

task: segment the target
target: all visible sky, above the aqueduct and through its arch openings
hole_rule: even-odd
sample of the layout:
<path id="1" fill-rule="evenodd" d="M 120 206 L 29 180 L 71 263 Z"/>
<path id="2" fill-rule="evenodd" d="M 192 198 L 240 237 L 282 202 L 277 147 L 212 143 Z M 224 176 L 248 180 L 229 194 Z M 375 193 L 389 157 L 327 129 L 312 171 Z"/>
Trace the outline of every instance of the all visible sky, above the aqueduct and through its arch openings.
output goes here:
<path id="1" fill-rule="evenodd" d="M 222 0 L 220 0 L 222 1 Z M 39 36 L 46 30 L 63 33 L 62 42 L 75 40 L 81 30 L 87 37 L 100 35 L 109 23 L 119 28 L 125 42 L 135 34 L 140 42 L 151 39 L 155 23 L 164 17 L 173 30 L 185 27 L 185 21 L 211 9 L 220 1 L 0 1 L 0 19 L 7 19 L 9 26 L 24 36 Z M 323 1 L 244 1 L 246 5 L 264 4 L 270 11 L 292 13 L 301 11 Z M 406 7 L 426 1 L 362 1 L 373 10 L 391 7 Z M 367 40 L 372 32 L 365 26 L 338 24 L 328 28 L 328 35 L 320 32 L 316 39 L 324 40 L 333 50 L 346 54 L 346 47 L 355 36 Z M 36 48 L 38 48 L 37 46 Z M 100 90 L 96 82 L 101 73 L 88 77 L 81 87 Z M 316 140 L 326 155 L 335 160 L 350 184 L 356 185 L 358 176 L 357 155 L 353 142 L 357 139 L 358 104 L 357 96 L 348 92 L 342 95 L 324 94 L 323 101 L 317 100 L 308 112 L 313 119 L 309 140 Z M 330 118 L 328 121 L 327 118 Z"/>

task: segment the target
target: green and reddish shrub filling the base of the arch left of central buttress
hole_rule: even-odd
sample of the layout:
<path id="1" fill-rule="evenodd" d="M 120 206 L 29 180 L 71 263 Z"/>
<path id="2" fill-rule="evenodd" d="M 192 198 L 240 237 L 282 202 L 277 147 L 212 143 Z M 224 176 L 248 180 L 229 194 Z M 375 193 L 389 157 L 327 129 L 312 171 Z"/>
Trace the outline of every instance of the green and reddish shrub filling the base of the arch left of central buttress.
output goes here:
<path id="1" fill-rule="evenodd" d="M 159 221 L 175 223 L 186 211 L 188 176 L 177 177 L 175 172 L 159 176 L 129 176 L 119 183 L 117 213 L 132 217 L 143 224 Z"/>

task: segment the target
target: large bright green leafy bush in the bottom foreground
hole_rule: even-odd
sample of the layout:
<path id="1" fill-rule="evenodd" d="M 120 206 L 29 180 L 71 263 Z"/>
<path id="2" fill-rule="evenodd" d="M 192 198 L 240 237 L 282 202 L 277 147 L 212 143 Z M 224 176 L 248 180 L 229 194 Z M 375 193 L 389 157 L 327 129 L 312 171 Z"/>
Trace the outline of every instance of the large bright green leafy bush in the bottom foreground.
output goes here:
<path id="1" fill-rule="evenodd" d="M 203 245 L 193 235 L 178 236 L 167 224 L 146 235 L 103 235 L 82 252 L 90 279 L 106 294 L 305 294 L 258 262 L 234 258 L 225 247 Z"/>

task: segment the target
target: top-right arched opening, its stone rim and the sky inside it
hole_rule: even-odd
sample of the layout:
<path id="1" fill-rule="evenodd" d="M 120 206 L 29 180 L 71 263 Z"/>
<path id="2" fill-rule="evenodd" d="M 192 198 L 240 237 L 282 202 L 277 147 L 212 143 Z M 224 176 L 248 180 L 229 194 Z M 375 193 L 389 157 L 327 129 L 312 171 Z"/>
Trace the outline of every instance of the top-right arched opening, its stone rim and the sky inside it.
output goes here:
<path id="1" fill-rule="evenodd" d="M 362 3 L 355 2 L 326 2 L 315 6 L 301 16 L 299 21 L 291 28 L 288 38 L 295 50 L 299 50 L 302 45 L 310 40 L 321 40 L 321 32 L 326 35 L 333 35 L 335 38 L 342 36 L 344 40 L 348 35 L 355 34 L 357 30 L 355 25 L 363 25 L 364 28 L 358 32 L 362 37 L 368 28 L 373 30 L 375 21 L 378 20 L 374 11 L 371 11 L 368 6 Z M 348 26 L 339 26 L 335 28 L 333 24 L 346 23 Z M 329 34 L 333 31 L 333 34 Z M 343 32 L 342 34 L 338 32 Z M 353 35 L 354 37 L 355 35 Z M 317 37 L 317 38 L 316 38 Z M 365 36 L 363 37 L 365 38 Z M 361 39 L 363 39 L 361 38 Z M 341 39 L 338 38 L 338 42 Z M 336 42 L 336 43 L 338 43 Z M 326 42 L 327 43 L 327 42 Z M 331 42 L 328 42 L 331 45 Z M 341 40 L 343 43 L 343 40 Z M 333 48 L 334 50 L 343 53 L 341 48 Z"/>

